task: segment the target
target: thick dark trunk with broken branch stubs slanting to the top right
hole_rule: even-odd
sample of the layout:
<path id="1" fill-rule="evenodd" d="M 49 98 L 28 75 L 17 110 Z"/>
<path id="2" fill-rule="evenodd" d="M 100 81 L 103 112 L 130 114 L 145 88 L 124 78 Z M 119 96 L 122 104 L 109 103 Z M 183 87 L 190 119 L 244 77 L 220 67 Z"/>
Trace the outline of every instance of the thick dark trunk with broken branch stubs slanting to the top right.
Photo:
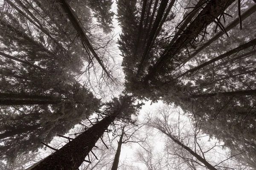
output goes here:
<path id="1" fill-rule="evenodd" d="M 210 0 L 200 14 L 192 21 L 188 28 L 183 32 L 184 35 L 180 36 L 175 44 L 169 49 L 169 51 L 160 56 L 157 59 L 156 64 L 148 68 L 148 74 L 144 77 L 144 84 L 147 85 L 150 79 L 154 79 L 154 76 L 161 71 L 164 65 L 172 61 L 173 57 L 182 49 L 185 45 L 192 40 L 215 18 L 217 18 L 222 12 L 230 6 L 235 0 Z"/>

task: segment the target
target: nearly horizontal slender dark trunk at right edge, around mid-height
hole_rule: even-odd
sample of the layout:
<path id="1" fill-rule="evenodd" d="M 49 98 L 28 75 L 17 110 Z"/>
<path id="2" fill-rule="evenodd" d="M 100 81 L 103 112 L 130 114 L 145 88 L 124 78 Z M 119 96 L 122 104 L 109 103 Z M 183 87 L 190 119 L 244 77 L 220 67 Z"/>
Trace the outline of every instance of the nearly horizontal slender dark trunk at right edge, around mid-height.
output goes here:
<path id="1" fill-rule="evenodd" d="M 220 92 L 220 93 L 210 93 L 210 94 L 197 94 L 191 95 L 191 98 L 199 98 L 199 97 L 214 97 L 217 95 L 222 96 L 253 96 L 256 95 L 256 90 L 244 90 L 244 91 L 229 91 L 229 92 Z"/>

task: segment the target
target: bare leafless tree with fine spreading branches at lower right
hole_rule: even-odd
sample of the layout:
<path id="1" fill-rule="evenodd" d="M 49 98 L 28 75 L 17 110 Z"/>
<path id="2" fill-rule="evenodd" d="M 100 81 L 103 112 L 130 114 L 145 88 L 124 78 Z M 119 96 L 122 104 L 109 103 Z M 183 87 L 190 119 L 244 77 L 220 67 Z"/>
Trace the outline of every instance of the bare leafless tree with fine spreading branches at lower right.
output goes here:
<path id="1" fill-rule="evenodd" d="M 214 162 L 213 160 L 211 160 L 211 152 L 218 152 L 218 149 L 216 149 L 216 147 L 222 147 L 225 146 L 225 144 L 221 144 L 220 142 L 215 142 L 215 144 L 207 144 L 206 142 L 202 143 L 201 141 L 205 140 L 203 139 L 203 136 L 205 135 L 201 134 L 201 124 L 198 124 L 197 119 L 193 119 L 193 121 L 195 122 L 193 122 L 193 124 L 190 124 L 192 126 L 189 128 L 187 122 L 183 120 L 182 115 L 180 115 L 180 113 L 174 115 L 174 111 L 172 111 L 173 109 L 171 107 L 172 106 L 163 106 L 162 108 L 158 108 L 157 111 L 154 113 L 154 115 L 156 116 L 151 120 L 151 122 L 149 122 L 149 126 L 160 130 L 163 134 L 168 136 L 171 141 L 179 145 L 180 148 L 186 150 L 185 156 L 180 155 L 180 153 L 172 153 L 173 150 L 169 150 L 169 152 L 171 152 L 170 154 L 181 157 L 186 161 L 191 161 L 192 164 L 195 162 L 196 164 L 210 170 L 217 170 L 217 168 L 233 169 L 232 166 L 241 166 L 239 164 L 223 164 L 223 162 L 227 161 L 230 158 L 233 158 L 236 155 L 239 155 L 240 153 L 224 158 L 219 158 L 222 159 L 219 162 Z M 159 115 L 159 117 L 157 115 Z M 166 147 L 168 148 L 169 144 L 167 144 Z M 192 155 L 193 158 L 190 159 L 189 157 L 186 157 L 187 154 Z M 218 161 L 217 158 L 216 160 Z"/>

